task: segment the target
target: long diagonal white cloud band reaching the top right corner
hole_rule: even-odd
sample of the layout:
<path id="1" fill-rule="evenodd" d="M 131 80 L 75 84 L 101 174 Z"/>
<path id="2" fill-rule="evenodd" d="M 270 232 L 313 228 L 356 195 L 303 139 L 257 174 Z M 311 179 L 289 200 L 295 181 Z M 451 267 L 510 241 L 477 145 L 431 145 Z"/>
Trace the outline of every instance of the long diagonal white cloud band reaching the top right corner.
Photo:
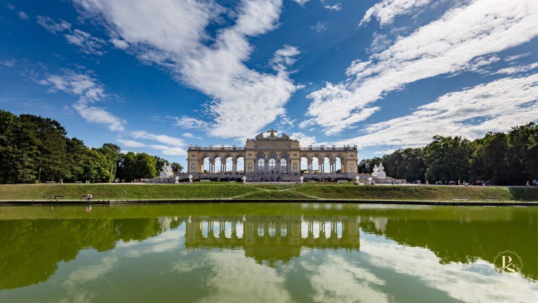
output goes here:
<path id="1" fill-rule="evenodd" d="M 353 61 L 348 79 L 315 91 L 307 111 L 328 135 L 375 110 L 369 104 L 407 83 L 469 68 L 473 58 L 527 43 L 538 35 L 538 2 L 477 0 L 400 37 L 369 61 Z M 477 47 L 479 46 L 479 47 Z M 362 119 L 361 119 L 362 118 Z"/>

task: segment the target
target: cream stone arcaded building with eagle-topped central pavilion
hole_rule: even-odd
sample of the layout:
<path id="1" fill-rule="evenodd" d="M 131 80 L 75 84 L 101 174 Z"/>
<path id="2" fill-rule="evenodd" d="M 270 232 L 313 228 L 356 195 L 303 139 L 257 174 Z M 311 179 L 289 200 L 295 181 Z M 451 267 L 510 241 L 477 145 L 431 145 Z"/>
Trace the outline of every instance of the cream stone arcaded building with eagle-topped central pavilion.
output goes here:
<path id="1" fill-rule="evenodd" d="M 252 180 L 298 180 L 301 159 L 305 159 L 307 172 L 302 174 L 305 177 L 352 179 L 357 175 L 357 146 L 301 146 L 298 140 L 285 133 L 279 137 L 276 132 L 271 129 L 267 131 L 268 136 L 260 133 L 254 139 L 247 139 L 244 147 L 189 146 L 187 174 L 192 174 L 193 179 L 236 179 L 245 175 Z M 230 158 L 231 167 L 226 167 Z M 220 167 L 215 167 L 217 159 L 220 159 Z M 240 159 L 243 159 L 242 167 L 238 166 Z M 317 159 L 317 167 L 313 166 L 314 159 Z M 209 166 L 206 164 L 204 170 L 206 161 Z"/>

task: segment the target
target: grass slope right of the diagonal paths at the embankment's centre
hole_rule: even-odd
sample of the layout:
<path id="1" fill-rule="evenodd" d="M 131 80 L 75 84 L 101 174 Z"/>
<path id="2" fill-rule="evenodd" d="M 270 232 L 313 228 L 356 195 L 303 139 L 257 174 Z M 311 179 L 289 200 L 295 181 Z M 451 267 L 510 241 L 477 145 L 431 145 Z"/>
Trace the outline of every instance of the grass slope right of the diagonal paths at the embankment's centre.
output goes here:
<path id="1" fill-rule="evenodd" d="M 499 198 L 502 201 L 538 201 L 538 188 L 486 186 L 334 186 L 303 185 L 290 191 L 333 200 L 451 201 L 466 197 L 470 201 Z"/>

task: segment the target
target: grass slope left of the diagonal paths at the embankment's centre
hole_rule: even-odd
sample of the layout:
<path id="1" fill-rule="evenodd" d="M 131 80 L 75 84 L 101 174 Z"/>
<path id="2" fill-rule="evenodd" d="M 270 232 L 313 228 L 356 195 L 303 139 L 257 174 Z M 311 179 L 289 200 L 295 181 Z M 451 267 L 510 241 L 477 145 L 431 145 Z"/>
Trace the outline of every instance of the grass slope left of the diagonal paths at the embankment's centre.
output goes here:
<path id="1" fill-rule="evenodd" d="M 0 185 L 0 200 L 43 200 L 63 196 L 78 200 L 91 194 L 96 200 L 226 199 L 259 189 L 240 184 L 37 184 Z"/>

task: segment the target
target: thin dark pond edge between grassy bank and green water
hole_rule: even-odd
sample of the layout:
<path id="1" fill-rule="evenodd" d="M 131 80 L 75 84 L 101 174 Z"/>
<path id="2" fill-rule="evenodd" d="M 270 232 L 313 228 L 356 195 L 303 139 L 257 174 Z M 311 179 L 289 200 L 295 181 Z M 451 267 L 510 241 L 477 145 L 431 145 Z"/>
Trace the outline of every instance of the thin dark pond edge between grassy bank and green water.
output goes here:
<path id="1" fill-rule="evenodd" d="M 538 201 L 521 202 L 452 202 L 452 201 L 420 201 L 420 200 L 331 200 L 331 199 L 159 199 L 159 200 L 4 200 L 0 201 L 0 206 L 14 205 L 140 205 L 140 204 L 171 204 L 171 203 L 360 203 L 360 204 L 395 204 L 395 205 L 442 205 L 442 206 L 538 206 Z"/>

